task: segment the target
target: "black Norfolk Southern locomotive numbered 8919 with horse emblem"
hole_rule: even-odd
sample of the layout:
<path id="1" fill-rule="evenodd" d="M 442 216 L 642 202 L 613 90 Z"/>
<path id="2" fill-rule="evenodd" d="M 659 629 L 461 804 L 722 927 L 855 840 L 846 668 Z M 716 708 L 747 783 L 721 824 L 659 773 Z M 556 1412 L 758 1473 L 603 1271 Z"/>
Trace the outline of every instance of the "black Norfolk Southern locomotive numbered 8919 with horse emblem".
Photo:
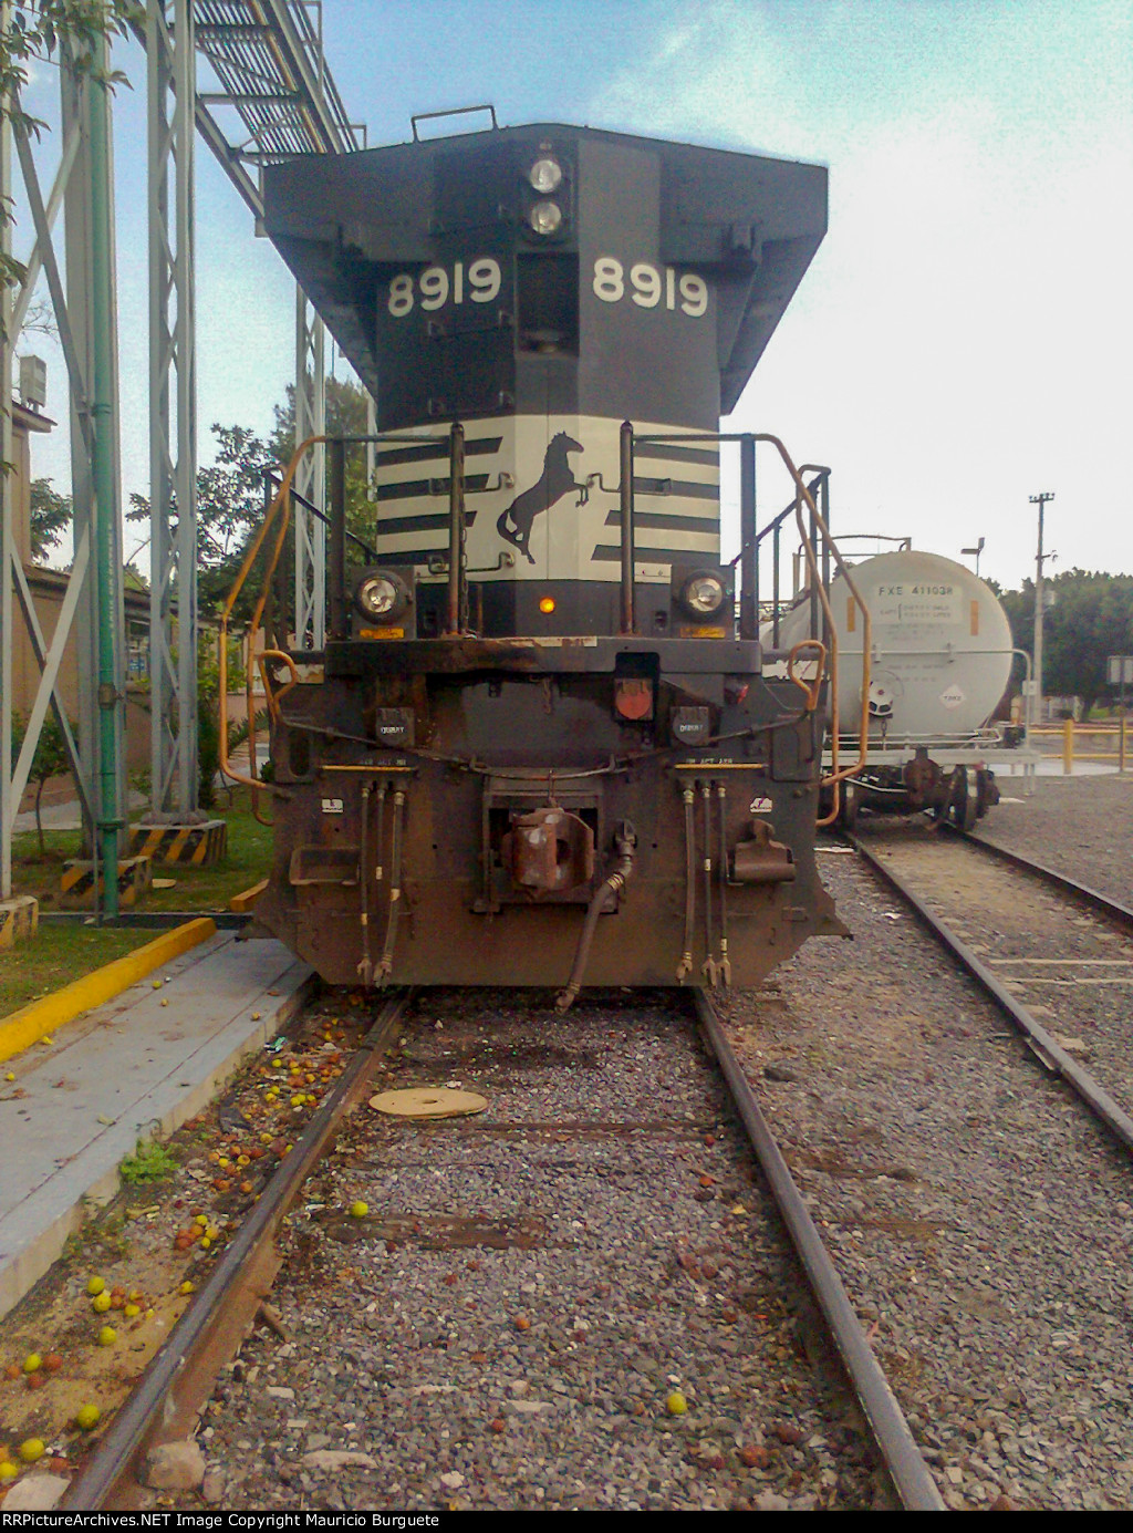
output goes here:
<path id="1" fill-rule="evenodd" d="M 721 558 L 719 419 L 823 238 L 825 169 L 414 126 L 270 166 L 264 199 L 379 435 L 365 538 L 331 495 L 325 647 L 262 659 L 259 924 L 334 984 L 561 1007 L 756 984 L 845 935 L 814 858 L 826 652 L 757 635 L 754 435 L 739 601 Z"/>

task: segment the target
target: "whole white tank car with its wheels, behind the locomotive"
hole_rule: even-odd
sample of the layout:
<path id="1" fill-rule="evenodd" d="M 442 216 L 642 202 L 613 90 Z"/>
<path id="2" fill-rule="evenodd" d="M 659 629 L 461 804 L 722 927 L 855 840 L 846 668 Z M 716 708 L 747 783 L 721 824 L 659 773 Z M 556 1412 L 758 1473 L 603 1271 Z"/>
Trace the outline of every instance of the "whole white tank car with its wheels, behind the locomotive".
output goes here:
<path id="1" fill-rule="evenodd" d="M 998 802 L 993 763 L 1029 760 L 1024 731 L 989 724 L 1007 687 L 1010 625 L 992 589 L 963 564 L 912 547 L 854 564 L 872 621 L 866 765 L 842 788 L 840 820 L 857 811 L 929 809 L 970 829 Z M 849 736 L 862 708 L 862 632 L 846 581 L 828 586 L 839 630 L 839 716 Z M 780 642 L 806 632 L 806 599 Z"/>

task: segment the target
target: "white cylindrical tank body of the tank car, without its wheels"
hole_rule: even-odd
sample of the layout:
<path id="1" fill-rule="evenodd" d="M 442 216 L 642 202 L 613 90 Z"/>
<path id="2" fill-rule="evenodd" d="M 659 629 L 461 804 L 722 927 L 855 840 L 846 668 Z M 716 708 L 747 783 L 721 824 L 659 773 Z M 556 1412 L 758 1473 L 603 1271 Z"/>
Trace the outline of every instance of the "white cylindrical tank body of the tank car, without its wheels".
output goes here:
<path id="1" fill-rule="evenodd" d="M 974 734 L 1010 676 L 1012 636 L 990 587 L 963 564 L 901 549 L 852 566 L 872 619 L 871 740 L 932 744 Z M 862 615 L 842 575 L 829 586 L 839 633 L 839 733 L 862 708 Z M 810 602 L 780 622 L 780 644 L 805 638 Z M 796 633 L 797 629 L 797 633 Z"/>

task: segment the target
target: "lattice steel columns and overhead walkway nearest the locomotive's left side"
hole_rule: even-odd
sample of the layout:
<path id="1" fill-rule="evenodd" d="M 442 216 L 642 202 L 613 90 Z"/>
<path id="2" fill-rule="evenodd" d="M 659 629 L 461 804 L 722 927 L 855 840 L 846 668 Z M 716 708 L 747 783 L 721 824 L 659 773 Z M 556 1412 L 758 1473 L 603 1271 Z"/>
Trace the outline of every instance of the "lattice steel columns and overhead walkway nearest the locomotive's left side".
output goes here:
<path id="1" fill-rule="evenodd" d="M 360 146 L 322 55 L 322 6 L 305 0 L 150 0 L 150 463 L 153 819 L 196 814 L 196 419 L 193 123 L 255 218 L 259 169 Z M 198 89 L 198 66 L 213 80 Z M 170 185 L 173 195 L 170 196 Z M 296 296 L 296 443 L 325 422 L 323 327 Z M 322 454 L 296 481 L 296 635 L 322 644 Z M 316 512 L 304 506 L 310 501 Z M 176 602 L 176 633 L 173 604 Z"/>

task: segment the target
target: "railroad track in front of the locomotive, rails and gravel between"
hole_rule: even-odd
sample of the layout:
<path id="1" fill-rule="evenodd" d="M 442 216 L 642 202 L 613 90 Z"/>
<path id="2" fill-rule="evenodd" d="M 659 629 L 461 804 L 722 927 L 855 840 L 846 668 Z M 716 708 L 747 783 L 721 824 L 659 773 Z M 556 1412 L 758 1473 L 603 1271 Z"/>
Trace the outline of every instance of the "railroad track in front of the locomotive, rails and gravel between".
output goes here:
<path id="1" fill-rule="evenodd" d="M 509 1452 L 544 1466 L 558 1455 L 569 1464 L 535 1473 L 520 1504 L 596 1498 L 593 1504 L 777 1508 L 791 1502 L 773 1484 L 787 1481 L 796 1499 L 810 1496 L 816 1505 L 868 1505 L 877 1496 L 872 1453 L 863 1455 L 860 1438 L 837 1426 L 846 1401 L 842 1380 L 828 1377 L 836 1354 L 895 1499 L 941 1508 L 719 1018 L 698 995 L 696 1019 L 721 1076 L 690 1047 L 687 1004 L 685 996 L 658 998 L 642 1016 L 638 1003 L 622 998 L 584 1006 L 552 1027 L 549 1012 L 532 1016 L 504 1006 L 503 1015 L 488 1013 L 461 995 L 426 993 L 428 1016 L 442 1015 L 422 1021 L 419 1007 L 400 1055 L 380 1069 L 385 1084 L 457 1078 L 492 1099 L 483 1118 L 445 1124 L 369 1118 L 365 1108 L 351 1114 L 405 1019 L 403 1000 L 388 1006 L 66 1504 L 140 1504 L 147 1449 L 193 1429 L 282 1246 L 278 1291 L 291 1340 L 281 1348 L 278 1335 L 253 1337 L 245 1361 L 222 1375 L 202 1435 L 210 1456 L 256 1459 L 255 1412 L 241 1378 L 262 1371 L 276 1392 L 261 1423 L 264 1441 L 278 1438 L 284 1447 L 268 1476 L 274 1484 L 253 1473 L 227 1505 L 334 1505 L 320 1499 L 317 1472 L 304 1467 L 319 1462 L 319 1449 L 300 1452 L 311 1439 L 336 1444 L 330 1452 L 339 1452 L 339 1476 L 362 1472 L 362 1499 L 342 1501 L 343 1492 L 334 1492 L 346 1507 L 429 1505 L 437 1493 L 457 1505 L 466 1496 L 475 1505 L 484 1504 L 481 1496 L 507 1504 L 526 1473 Z M 655 1188 L 658 1179 L 672 1185 Z M 376 1213 L 343 1217 L 345 1200 L 359 1190 Z M 814 1294 L 803 1318 L 771 1197 Z M 833 1351 L 823 1341 L 823 1360 L 808 1363 L 790 1338 L 813 1326 L 816 1311 Z M 334 1349 L 325 1344 L 330 1332 Z M 345 1375 L 328 1352 L 346 1360 Z M 345 1389 L 345 1415 L 363 1415 L 376 1387 L 389 1439 L 429 1441 L 440 1462 L 414 1466 L 406 1449 L 397 1466 L 380 1466 L 379 1484 L 365 1473 L 366 1464 L 379 1467 L 373 1443 L 359 1447 L 357 1420 L 346 1424 L 354 1432 L 339 1436 L 334 1404 L 331 1420 L 323 1403 L 325 1430 L 314 1438 L 305 1404 L 282 1404 L 279 1420 L 268 1420 L 276 1400 L 316 1390 L 325 1367 L 333 1371 L 331 1401 Z M 498 1377 L 491 1378 L 494 1367 Z M 449 1449 L 454 1438 L 471 1449 Z M 652 1473 L 630 1484 L 642 1464 Z M 537 1482 L 540 1473 L 546 1484 Z M 193 1496 L 178 1504 L 199 1505 Z"/>

